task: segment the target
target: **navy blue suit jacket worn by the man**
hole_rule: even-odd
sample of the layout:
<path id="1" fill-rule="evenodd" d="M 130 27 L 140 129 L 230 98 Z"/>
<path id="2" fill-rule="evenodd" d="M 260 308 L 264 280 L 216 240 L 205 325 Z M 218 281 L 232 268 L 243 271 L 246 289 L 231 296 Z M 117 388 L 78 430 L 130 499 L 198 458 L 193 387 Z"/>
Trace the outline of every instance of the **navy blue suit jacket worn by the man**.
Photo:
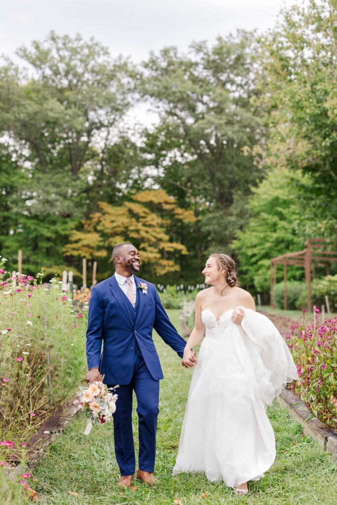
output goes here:
<path id="1" fill-rule="evenodd" d="M 134 280 L 136 286 L 140 282 L 148 285 L 147 294 L 136 287 L 135 309 L 114 275 L 91 289 L 86 356 L 88 368 L 99 367 L 101 375 L 105 375 L 105 384 L 122 385 L 131 381 L 135 340 L 152 377 L 164 378 L 152 340 L 153 328 L 180 358 L 183 355 L 186 342 L 170 322 L 155 285 L 136 276 Z"/>

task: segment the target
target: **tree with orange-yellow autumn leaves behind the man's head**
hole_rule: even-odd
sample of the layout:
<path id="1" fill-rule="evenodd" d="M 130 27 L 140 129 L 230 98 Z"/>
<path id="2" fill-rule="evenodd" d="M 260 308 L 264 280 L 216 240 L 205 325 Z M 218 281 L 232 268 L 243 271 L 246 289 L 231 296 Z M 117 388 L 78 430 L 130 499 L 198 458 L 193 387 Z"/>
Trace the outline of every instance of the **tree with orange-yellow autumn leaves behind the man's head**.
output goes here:
<path id="1" fill-rule="evenodd" d="M 181 234 L 195 217 L 178 207 L 175 198 L 161 189 L 145 190 L 121 206 L 102 201 L 99 208 L 83 221 L 83 231 L 72 232 L 65 256 L 106 260 L 116 244 L 131 242 L 140 251 L 142 275 L 158 277 L 180 270 L 179 256 L 188 254 Z M 107 275 L 110 271 L 100 271 L 100 277 Z"/>

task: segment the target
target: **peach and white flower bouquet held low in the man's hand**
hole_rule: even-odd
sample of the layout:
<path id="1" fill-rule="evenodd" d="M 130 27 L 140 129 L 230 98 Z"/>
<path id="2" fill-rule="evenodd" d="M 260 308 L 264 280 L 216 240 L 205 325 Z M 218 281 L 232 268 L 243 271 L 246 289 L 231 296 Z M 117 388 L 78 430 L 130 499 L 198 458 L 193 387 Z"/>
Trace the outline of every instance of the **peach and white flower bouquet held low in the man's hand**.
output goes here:
<path id="1" fill-rule="evenodd" d="M 117 387 L 109 388 L 114 391 Z M 82 386 L 78 391 L 79 400 L 74 405 L 79 405 L 84 410 L 88 419 L 84 435 L 88 435 L 93 424 L 110 422 L 116 411 L 118 394 L 113 394 L 105 387 L 103 382 L 95 381 L 88 387 Z"/>

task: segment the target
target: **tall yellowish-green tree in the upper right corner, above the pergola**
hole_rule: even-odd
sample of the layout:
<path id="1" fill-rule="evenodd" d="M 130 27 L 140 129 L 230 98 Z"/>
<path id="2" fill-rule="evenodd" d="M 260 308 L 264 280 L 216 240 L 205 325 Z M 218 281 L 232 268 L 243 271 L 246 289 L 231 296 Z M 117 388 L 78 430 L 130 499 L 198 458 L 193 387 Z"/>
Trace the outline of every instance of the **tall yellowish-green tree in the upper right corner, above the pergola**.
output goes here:
<path id="1" fill-rule="evenodd" d="M 262 39 L 260 106 L 270 138 L 261 165 L 311 176 L 299 233 L 335 237 L 337 231 L 337 10 L 335 0 L 310 0 L 281 13 Z"/>

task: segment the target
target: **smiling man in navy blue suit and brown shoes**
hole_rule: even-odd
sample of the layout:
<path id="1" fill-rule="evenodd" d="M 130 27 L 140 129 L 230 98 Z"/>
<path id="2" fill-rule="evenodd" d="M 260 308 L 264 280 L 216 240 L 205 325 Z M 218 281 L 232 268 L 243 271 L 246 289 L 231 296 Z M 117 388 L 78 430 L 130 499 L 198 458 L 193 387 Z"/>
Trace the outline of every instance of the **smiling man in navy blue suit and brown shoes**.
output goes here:
<path id="1" fill-rule="evenodd" d="M 132 244 L 118 244 L 112 252 L 115 274 L 91 290 L 86 332 L 86 381 L 119 384 L 114 414 L 115 453 L 121 478 L 118 487 L 130 487 L 135 456 L 132 434 L 132 391 L 137 398 L 139 456 L 137 479 L 150 484 L 156 456 L 159 380 L 163 379 L 153 328 L 182 358 L 185 340 L 170 322 L 154 284 L 139 272 L 139 253 Z M 103 342 L 103 351 L 101 354 Z M 194 353 L 195 356 L 195 353 Z M 195 364 L 191 356 L 187 368 Z"/>

